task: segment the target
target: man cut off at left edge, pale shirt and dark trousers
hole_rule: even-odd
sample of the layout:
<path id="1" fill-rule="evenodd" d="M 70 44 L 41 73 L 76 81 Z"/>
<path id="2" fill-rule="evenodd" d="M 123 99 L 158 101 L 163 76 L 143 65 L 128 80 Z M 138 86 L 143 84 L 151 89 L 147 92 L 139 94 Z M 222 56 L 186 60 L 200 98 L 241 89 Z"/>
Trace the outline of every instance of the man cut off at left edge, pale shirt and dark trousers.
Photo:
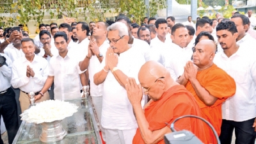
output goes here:
<path id="1" fill-rule="evenodd" d="M 6 54 L 0 53 L 0 57 L 5 58 L 4 63 L 3 59 L 0 58 L 0 116 L 3 116 L 8 133 L 8 142 L 12 143 L 19 129 L 15 93 L 10 83 L 12 79 L 12 61 Z M 0 143 L 3 143 L 1 136 Z"/>

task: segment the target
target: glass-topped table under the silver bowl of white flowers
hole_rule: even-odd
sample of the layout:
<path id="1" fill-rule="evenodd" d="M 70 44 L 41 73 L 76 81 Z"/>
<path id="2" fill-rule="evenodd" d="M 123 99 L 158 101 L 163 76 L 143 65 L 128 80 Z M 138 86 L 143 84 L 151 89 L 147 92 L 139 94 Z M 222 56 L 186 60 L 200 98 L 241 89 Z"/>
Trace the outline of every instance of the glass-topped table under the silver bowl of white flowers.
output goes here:
<path id="1" fill-rule="evenodd" d="M 56 141 L 54 144 L 102 144 L 91 99 L 81 98 L 65 101 L 74 103 L 79 108 L 72 116 L 64 118 L 61 121 L 63 129 L 67 131 L 67 136 L 63 140 Z M 13 143 L 42 143 L 39 140 L 41 132 L 42 127 L 40 124 L 30 124 L 22 121 Z"/>

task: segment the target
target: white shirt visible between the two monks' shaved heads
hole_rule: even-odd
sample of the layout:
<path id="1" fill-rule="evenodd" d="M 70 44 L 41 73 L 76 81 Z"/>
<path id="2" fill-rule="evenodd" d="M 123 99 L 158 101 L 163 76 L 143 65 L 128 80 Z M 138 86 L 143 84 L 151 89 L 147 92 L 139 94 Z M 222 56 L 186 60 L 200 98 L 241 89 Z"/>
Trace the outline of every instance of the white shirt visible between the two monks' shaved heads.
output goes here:
<path id="1" fill-rule="evenodd" d="M 177 80 L 179 76 L 184 73 L 184 67 L 188 61 L 191 61 L 193 51 L 189 47 L 179 47 L 179 45 L 172 44 L 172 49 L 166 52 L 165 67 L 170 72 L 172 79 Z"/>

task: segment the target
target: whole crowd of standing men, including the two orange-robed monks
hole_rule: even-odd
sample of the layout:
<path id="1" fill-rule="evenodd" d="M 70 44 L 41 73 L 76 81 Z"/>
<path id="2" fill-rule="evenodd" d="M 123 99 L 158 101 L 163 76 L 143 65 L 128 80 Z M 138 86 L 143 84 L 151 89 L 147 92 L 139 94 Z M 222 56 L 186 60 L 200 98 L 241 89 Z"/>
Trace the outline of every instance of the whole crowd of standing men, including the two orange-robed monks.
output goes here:
<path id="1" fill-rule="evenodd" d="M 231 143 L 233 131 L 237 144 L 255 143 L 255 18 L 251 10 L 216 18 L 40 24 L 34 40 L 22 29 L 0 28 L 0 115 L 9 143 L 29 92 L 35 102 L 76 99 L 88 85 L 108 144 L 164 143 L 169 124 L 183 115 L 205 118 L 221 143 Z M 175 129 L 217 143 L 195 118 Z"/>

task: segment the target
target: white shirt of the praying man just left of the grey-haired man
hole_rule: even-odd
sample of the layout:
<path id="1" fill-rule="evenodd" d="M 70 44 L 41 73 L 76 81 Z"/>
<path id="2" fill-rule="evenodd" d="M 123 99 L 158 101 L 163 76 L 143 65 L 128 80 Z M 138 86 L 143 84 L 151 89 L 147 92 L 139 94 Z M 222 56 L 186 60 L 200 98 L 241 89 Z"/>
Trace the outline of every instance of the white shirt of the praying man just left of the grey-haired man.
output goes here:
<path id="1" fill-rule="evenodd" d="M 102 45 L 100 45 L 99 47 L 99 51 L 100 53 L 102 53 L 103 58 L 105 58 L 106 56 L 106 52 L 108 50 L 109 44 L 108 44 L 108 40 L 105 40 L 104 43 Z M 90 63 L 88 66 L 88 72 L 89 72 L 89 79 L 90 79 L 90 95 L 92 95 L 93 97 L 97 97 L 97 96 L 102 96 L 102 88 L 103 88 L 103 84 L 99 84 L 96 85 L 93 82 L 93 76 L 99 72 L 98 70 L 100 69 L 100 61 L 97 58 L 97 56 L 92 56 L 92 58 L 90 59 Z"/>

